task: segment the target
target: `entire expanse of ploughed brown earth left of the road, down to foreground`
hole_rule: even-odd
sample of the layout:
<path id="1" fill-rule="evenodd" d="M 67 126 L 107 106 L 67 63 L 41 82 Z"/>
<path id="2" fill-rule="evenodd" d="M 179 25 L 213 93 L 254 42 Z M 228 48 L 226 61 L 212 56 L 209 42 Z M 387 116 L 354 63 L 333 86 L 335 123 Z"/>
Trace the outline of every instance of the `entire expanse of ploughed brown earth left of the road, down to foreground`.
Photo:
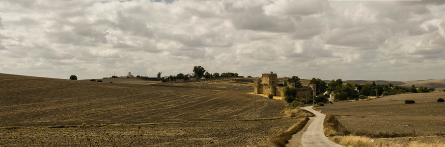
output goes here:
<path id="1" fill-rule="evenodd" d="M 0 73 L 0 146 L 252 146 L 300 121 L 246 79 L 101 80 Z"/>

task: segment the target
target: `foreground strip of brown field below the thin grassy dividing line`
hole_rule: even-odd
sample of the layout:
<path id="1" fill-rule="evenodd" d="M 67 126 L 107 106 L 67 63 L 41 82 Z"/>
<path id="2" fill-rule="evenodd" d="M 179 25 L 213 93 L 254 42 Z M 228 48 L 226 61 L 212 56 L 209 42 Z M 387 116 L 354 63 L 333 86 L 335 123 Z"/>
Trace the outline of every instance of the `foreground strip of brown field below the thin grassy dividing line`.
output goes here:
<path id="1" fill-rule="evenodd" d="M 181 123 L 99 128 L 0 129 L 0 146 L 254 146 L 300 119 Z M 90 142 L 86 139 L 86 134 Z M 139 134 L 139 135 L 138 135 Z"/>

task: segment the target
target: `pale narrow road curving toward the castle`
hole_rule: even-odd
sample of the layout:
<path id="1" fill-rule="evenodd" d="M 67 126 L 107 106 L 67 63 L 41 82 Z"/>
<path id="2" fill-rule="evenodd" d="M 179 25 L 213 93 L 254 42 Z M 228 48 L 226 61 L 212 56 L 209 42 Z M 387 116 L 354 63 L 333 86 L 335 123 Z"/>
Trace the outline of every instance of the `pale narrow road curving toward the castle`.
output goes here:
<path id="1" fill-rule="evenodd" d="M 307 130 L 303 133 L 301 139 L 302 147 L 342 147 L 325 137 L 323 133 L 323 121 L 326 115 L 313 110 L 312 106 L 302 107 L 302 109 L 315 114 L 314 121 L 309 124 Z"/>

